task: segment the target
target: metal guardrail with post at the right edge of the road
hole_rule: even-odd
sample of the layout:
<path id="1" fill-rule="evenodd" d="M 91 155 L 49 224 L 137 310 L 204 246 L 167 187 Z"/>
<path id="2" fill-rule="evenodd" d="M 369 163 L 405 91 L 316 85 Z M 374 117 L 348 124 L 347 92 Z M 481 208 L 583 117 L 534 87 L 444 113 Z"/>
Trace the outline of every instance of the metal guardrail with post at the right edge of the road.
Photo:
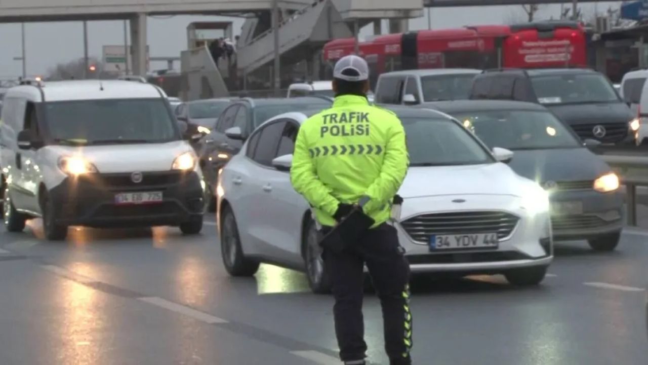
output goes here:
<path id="1" fill-rule="evenodd" d="M 601 155 L 626 189 L 627 224 L 637 225 L 637 186 L 648 186 L 648 157 Z"/>

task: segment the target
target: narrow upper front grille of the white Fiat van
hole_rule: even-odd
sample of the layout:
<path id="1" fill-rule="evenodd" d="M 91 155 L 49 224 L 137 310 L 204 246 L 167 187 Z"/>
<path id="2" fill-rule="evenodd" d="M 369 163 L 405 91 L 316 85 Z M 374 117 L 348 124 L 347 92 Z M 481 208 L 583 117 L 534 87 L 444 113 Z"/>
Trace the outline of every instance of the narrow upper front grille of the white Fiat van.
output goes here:
<path id="1" fill-rule="evenodd" d="M 182 179 L 180 171 L 144 172 L 142 181 L 133 183 L 130 173 L 98 173 L 80 177 L 83 183 L 105 188 L 139 188 L 178 184 Z"/>

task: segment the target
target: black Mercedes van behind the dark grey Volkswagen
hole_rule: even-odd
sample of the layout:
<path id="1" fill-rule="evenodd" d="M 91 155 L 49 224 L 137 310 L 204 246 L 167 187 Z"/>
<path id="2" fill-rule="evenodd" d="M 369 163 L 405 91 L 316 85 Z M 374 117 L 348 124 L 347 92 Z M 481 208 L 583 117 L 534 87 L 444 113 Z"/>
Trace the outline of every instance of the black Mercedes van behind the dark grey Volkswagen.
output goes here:
<path id="1" fill-rule="evenodd" d="M 582 140 L 634 143 L 639 123 L 612 83 L 592 69 L 494 69 L 477 75 L 470 99 L 517 100 L 549 108 Z"/>

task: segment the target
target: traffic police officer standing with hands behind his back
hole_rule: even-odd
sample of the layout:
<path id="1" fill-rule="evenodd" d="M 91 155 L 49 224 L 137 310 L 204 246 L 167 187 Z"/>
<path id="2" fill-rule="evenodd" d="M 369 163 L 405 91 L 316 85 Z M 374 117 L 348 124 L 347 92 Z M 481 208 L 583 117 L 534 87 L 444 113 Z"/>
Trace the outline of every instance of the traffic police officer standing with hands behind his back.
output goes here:
<path id="1" fill-rule="evenodd" d="M 340 359 L 348 365 L 365 364 L 362 296 L 366 264 L 382 305 L 390 364 L 411 364 L 410 267 L 396 229 L 387 223 L 409 164 L 405 132 L 393 112 L 369 105 L 365 60 L 341 58 L 333 79 L 332 108 L 312 116 L 299 129 L 290 179 L 312 206 L 324 233 L 367 199 L 360 209 L 375 222 L 358 242 L 342 250 L 323 249 L 335 297 Z"/>

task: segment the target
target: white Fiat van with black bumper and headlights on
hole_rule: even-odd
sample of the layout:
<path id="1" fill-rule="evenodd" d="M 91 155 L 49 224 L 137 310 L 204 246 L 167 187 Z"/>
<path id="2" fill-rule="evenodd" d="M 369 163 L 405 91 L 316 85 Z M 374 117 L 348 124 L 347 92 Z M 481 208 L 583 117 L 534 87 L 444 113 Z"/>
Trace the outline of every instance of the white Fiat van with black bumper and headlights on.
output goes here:
<path id="1" fill-rule="evenodd" d="M 5 95 L 1 166 L 7 231 L 70 225 L 202 230 L 204 182 L 181 125 L 152 84 L 32 82 Z"/>

